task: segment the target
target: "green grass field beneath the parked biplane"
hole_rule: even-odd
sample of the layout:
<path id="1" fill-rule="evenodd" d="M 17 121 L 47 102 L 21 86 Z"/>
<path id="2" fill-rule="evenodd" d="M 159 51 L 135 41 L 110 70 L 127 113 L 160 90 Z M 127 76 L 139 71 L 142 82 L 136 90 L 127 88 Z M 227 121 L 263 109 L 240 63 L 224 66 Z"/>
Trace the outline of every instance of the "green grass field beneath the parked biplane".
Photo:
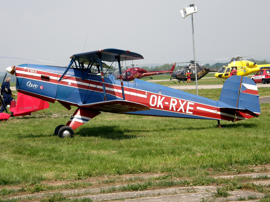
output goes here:
<path id="1" fill-rule="evenodd" d="M 259 94 L 269 96 L 269 88 Z M 188 92 L 194 93 L 195 90 Z M 199 90 L 218 100 L 221 89 Z M 224 171 L 250 171 L 270 163 L 269 110 L 235 123 L 101 113 L 61 139 L 54 129 L 75 111 L 59 103 L 31 116 L 0 122 L 0 185 L 35 184 L 42 180 L 165 172 L 199 179 Z"/>

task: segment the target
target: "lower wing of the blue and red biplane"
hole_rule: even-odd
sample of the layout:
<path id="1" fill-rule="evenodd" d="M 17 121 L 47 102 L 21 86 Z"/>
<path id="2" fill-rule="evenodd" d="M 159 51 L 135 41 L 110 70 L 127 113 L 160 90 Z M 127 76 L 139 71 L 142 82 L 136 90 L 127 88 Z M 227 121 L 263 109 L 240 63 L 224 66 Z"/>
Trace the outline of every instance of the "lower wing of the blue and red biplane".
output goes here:
<path id="1" fill-rule="evenodd" d="M 110 112 L 110 113 L 118 113 L 122 114 L 125 112 L 136 112 L 143 110 L 150 110 L 150 108 L 146 105 L 142 105 L 135 102 L 130 102 L 126 100 L 110 100 L 104 102 L 97 102 L 93 104 L 80 105 L 80 107 L 86 109 L 97 110 L 100 112 Z"/>

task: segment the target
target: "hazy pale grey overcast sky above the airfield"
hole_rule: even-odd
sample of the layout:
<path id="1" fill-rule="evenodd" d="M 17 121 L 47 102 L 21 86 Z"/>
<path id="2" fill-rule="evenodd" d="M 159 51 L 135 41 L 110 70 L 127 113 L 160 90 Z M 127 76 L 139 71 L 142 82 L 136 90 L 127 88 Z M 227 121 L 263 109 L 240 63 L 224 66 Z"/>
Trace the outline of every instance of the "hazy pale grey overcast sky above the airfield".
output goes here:
<path id="1" fill-rule="evenodd" d="M 197 61 L 270 56 L 269 1 L 0 2 L 0 56 L 55 62 L 0 58 L 0 72 L 25 63 L 66 66 L 84 46 L 84 52 L 119 48 L 143 55 L 136 64 L 193 60 L 191 17 L 180 13 L 190 4 L 198 9 L 193 14 Z"/>

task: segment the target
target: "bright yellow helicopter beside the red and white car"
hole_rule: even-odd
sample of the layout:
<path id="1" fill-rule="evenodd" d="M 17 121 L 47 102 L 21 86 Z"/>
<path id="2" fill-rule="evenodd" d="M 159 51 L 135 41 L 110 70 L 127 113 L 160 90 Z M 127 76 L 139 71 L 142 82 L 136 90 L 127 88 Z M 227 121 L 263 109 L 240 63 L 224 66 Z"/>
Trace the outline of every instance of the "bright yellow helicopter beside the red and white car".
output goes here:
<path id="1" fill-rule="evenodd" d="M 239 76 L 247 76 L 261 69 L 270 69 L 270 64 L 257 65 L 255 62 L 241 60 L 241 58 L 241 56 L 233 57 L 228 65 L 223 66 L 215 73 L 215 77 L 227 79 L 232 75 L 231 73 L 234 68 L 237 70 L 237 75 Z"/>

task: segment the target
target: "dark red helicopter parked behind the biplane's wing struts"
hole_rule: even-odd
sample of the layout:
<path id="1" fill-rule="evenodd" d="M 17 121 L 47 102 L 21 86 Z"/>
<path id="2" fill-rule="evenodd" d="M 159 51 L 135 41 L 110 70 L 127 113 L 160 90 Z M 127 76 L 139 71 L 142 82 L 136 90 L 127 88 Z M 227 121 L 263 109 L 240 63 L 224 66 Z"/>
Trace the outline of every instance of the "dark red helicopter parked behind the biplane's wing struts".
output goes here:
<path id="1" fill-rule="evenodd" d="M 173 64 L 170 70 L 164 70 L 164 71 L 147 71 L 140 67 L 134 67 L 135 64 L 132 64 L 132 68 L 128 68 L 126 71 L 123 71 L 123 81 L 131 81 L 134 79 L 140 79 L 145 76 L 150 76 L 151 79 L 153 79 L 153 75 L 157 74 L 166 74 L 170 73 L 172 74 L 174 72 L 174 67 L 176 65 L 176 62 Z M 118 77 L 120 79 L 120 76 Z"/>

